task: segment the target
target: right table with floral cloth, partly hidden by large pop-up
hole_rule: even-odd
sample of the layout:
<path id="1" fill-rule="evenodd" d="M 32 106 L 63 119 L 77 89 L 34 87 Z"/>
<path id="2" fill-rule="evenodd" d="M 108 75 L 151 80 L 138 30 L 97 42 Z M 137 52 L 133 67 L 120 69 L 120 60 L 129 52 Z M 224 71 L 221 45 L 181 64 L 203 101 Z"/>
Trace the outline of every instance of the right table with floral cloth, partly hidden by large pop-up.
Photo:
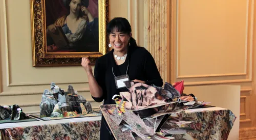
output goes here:
<path id="1" fill-rule="evenodd" d="M 197 118 L 191 124 L 183 125 L 183 127 L 192 128 L 200 132 L 187 132 L 191 139 L 226 140 L 228 139 L 228 135 L 233 127 L 234 121 L 236 121 L 236 116 L 231 110 L 221 107 L 188 109 L 184 114 L 182 114 L 182 117 Z M 179 136 L 176 138 L 179 138 Z"/>

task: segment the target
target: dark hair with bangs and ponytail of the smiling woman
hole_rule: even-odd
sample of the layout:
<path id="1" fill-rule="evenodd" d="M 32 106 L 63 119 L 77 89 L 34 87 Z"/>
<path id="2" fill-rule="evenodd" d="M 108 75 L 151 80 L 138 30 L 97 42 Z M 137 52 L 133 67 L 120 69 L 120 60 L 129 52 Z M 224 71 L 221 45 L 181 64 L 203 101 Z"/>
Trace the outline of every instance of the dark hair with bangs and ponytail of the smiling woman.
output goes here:
<path id="1" fill-rule="evenodd" d="M 106 27 L 106 33 L 108 35 L 114 31 L 130 35 L 132 32 L 132 27 L 126 18 L 115 17 L 108 23 L 108 26 Z M 131 46 L 137 46 L 136 40 L 133 37 L 130 38 L 130 44 Z"/>

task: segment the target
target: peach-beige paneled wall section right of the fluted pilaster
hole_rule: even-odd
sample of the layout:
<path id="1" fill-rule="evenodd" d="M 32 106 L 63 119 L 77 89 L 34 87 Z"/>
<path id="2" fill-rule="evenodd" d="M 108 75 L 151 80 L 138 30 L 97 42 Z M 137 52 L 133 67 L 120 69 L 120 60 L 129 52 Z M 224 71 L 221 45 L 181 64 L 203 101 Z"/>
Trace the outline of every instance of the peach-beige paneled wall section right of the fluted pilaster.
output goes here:
<path id="1" fill-rule="evenodd" d="M 254 3 L 254 0 L 171 3 L 171 82 L 184 80 L 186 87 L 240 85 L 241 138 L 256 137 Z"/>

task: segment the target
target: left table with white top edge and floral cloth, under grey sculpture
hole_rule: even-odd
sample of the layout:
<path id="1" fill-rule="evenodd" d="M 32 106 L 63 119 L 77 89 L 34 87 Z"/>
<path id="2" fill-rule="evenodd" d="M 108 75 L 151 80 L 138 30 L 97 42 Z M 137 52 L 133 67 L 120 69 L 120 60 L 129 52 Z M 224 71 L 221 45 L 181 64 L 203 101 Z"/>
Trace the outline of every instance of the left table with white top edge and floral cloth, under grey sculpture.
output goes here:
<path id="1" fill-rule="evenodd" d="M 101 117 L 0 124 L 0 139 L 99 139 Z"/>

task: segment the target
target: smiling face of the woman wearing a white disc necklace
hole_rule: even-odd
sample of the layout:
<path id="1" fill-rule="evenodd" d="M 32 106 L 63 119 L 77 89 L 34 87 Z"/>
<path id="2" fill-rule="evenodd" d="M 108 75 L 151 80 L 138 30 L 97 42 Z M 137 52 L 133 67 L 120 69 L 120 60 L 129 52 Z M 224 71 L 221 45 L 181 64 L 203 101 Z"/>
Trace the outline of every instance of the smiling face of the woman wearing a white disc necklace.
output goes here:
<path id="1" fill-rule="evenodd" d="M 110 44 L 115 51 L 122 51 L 128 46 L 130 37 L 126 33 L 114 31 L 110 33 Z"/>

